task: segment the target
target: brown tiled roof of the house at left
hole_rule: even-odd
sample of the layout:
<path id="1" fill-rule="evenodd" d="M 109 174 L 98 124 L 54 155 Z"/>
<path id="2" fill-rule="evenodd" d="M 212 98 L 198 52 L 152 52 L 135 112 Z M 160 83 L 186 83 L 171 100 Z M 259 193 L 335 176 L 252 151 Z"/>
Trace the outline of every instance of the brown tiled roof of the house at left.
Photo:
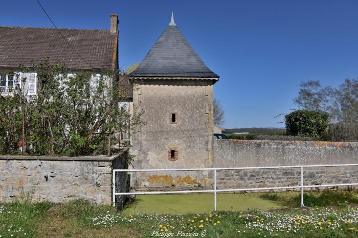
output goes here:
<path id="1" fill-rule="evenodd" d="M 0 27 L 0 67 L 32 66 L 48 57 L 70 69 L 113 69 L 118 34 L 110 30 Z"/>

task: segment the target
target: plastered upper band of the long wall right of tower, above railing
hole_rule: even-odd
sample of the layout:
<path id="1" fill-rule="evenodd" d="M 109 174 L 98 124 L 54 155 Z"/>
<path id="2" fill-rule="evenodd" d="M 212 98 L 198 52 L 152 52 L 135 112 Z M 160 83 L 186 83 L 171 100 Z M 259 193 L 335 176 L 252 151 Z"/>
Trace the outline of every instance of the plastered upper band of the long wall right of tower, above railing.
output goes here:
<path id="1" fill-rule="evenodd" d="M 358 163 L 358 143 L 214 140 L 215 167 Z"/>

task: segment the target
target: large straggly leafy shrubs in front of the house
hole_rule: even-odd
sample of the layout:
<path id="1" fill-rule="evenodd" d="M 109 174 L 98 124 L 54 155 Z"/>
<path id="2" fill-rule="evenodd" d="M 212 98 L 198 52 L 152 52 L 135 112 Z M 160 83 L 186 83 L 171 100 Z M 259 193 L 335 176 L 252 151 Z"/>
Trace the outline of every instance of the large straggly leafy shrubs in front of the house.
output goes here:
<path id="1" fill-rule="evenodd" d="M 47 59 L 19 70 L 23 74 L 15 82 L 14 95 L 0 95 L 0 154 L 103 154 L 108 135 L 128 134 L 141 123 L 140 114 L 127 123 L 130 115 L 121 103 L 124 87 L 118 72 L 102 70 L 99 77 L 86 71 L 70 74 Z M 25 85 L 26 73 L 33 71 L 39 81 L 36 95 L 19 83 Z"/>

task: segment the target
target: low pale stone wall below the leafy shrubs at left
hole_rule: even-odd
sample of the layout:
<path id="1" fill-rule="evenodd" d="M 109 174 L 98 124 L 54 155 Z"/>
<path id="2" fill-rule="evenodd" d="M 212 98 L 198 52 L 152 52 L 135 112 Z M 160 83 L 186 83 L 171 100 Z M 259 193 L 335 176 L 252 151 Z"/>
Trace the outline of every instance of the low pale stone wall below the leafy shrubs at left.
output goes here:
<path id="1" fill-rule="evenodd" d="M 0 201 L 36 199 L 57 203 L 82 198 L 110 204 L 112 170 L 126 168 L 126 153 L 111 157 L 0 155 Z M 127 175 L 117 175 L 116 184 L 121 191 L 126 190 Z M 117 198 L 119 206 L 124 199 Z"/>

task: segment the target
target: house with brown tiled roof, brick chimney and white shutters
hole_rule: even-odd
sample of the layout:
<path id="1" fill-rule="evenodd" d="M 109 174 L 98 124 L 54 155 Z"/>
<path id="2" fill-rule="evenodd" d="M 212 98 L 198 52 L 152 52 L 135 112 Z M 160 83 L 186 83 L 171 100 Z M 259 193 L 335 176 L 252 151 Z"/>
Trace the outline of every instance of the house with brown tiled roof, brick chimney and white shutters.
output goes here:
<path id="1" fill-rule="evenodd" d="M 88 84 L 98 80 L 102 70 L 118 71 L 118 16 L 110 15 L 110 29 L 56 29 L 0 26 L 0 92 L 11 95 L 18 78 L 25 78 L 28 95 L 38 90 L 35 71 L 19 72 L 20 65 L 31 67 L 48 58 L 68 69 L 93 72 Z M 9 74 L 17 72 L 17 74 Z M 13 75 L 13 76 L 12 76 Z M 18 76 L 20 75 L 20 76 Z"/>

